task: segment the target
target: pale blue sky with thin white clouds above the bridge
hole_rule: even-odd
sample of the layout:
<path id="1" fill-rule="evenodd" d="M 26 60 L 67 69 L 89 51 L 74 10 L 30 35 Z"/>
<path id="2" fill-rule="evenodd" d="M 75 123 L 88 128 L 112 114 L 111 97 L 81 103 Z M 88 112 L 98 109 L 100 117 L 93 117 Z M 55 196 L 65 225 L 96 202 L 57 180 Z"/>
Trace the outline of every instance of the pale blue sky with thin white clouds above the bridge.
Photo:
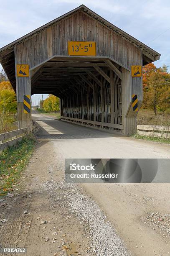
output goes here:
<path id="1" fill-rule="evenodd" d="M 162 54 L 157 67 L 170 65 L 169 0 L 0 0 L 0 48 L 81 4 Z"/>

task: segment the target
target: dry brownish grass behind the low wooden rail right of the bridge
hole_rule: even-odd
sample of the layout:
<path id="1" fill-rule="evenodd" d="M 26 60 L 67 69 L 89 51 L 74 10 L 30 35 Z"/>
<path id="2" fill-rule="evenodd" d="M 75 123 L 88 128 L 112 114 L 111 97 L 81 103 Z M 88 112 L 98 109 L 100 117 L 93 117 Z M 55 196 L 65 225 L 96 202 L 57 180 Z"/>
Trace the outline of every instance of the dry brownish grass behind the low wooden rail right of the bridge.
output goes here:
<path id="1" fill-rule="evenodd" d="M 158 112 L 154 115 L 153 110 L 140 109 L 137 114 L 137 124 L 140 125 L 170 125 L 170 109 Z"/>

